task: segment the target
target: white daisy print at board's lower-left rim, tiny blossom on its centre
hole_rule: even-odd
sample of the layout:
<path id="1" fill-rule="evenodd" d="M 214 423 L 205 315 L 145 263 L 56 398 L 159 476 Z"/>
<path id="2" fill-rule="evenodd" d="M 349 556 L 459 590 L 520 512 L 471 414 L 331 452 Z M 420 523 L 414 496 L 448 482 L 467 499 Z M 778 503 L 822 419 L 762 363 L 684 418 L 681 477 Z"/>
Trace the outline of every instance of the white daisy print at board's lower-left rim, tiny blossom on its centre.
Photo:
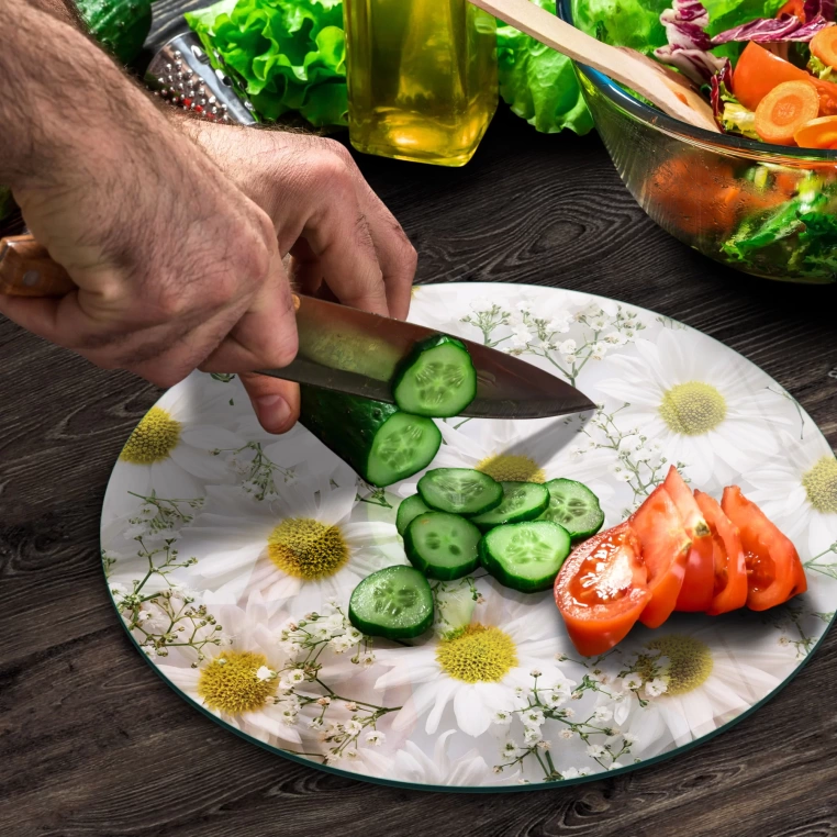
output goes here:
<path id="1" fill-rule="evenodd" d="M 288 662 L 277 650 L 274 635 L 284 616 L 269 615 L 258 594 L 250 596 L 245 610 L 221 605 L 213 612 L 231 643 L 208 655 L 196 669 L 185 657 L 178 666 L 157 663 L 160 674 L 230 726 L 260 741 L 279 738 L 299 744 L 293 718 L 277 702 L 282 698 L 280 683 L 276 677 L 259 677 L 263 669 L 275 673 Z"/>

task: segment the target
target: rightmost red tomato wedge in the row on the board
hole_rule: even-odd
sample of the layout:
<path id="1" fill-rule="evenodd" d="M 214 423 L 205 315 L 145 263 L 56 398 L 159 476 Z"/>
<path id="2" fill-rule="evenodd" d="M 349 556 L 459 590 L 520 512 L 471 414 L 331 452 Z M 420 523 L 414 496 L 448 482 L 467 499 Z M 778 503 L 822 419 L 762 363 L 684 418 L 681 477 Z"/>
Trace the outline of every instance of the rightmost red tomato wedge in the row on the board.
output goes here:
<path id="1" fill-rule="evenodd" d="M 766 611 L 807 590 L 796 548 L 737 486 L 724 489 L 721 507 L 741 536 L 750 610 Z"/>

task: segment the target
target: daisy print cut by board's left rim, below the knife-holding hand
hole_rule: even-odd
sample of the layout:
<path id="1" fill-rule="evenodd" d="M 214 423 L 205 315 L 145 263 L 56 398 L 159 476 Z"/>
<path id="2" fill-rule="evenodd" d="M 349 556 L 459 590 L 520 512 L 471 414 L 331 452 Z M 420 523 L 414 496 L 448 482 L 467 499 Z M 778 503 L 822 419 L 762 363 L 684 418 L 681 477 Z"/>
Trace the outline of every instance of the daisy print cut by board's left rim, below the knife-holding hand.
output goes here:
<path id="1" fill-rule="evenodd" d="M 105 509 L 115 517 L 138 510 L 145 498 L 193 499 L 208 482 L 231 479 L 217 448 L 242 445 L 238 436 L 213 423 L 216 398 L 202 395 L 194 378 L 170 389 L 129 437 L 108 486 Z"/>

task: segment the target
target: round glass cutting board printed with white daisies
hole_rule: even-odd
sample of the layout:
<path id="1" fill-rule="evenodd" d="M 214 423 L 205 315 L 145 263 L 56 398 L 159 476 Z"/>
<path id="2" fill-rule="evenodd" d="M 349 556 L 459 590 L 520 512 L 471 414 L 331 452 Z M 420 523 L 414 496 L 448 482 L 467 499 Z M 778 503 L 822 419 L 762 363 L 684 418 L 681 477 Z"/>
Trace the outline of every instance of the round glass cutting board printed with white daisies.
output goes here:
<path id="1" fill-rule="evenodd" d="M 600 405 L 439 421 L 433 467 L 579 480 L 605 526 L 671 464 L 715 498 L 740 486 L 796 545 L 807 593 L 762 613 L 674 614 L 584 658 L 551 592 L 517 593 L 480 570 L 435 582 L 432 633 L 371 640 L 347 620 L 349 595 L 408 562 L 395 512 L 421 475 L 373 489 L 302 426 L 261 431 L 235 376 L 196 372 L 126 443 L 101 529 L 123 625 L 181 696 L 325 770 L 500 791 L 672 756 L 799 671 L 837 603 L 837 460 L 784 389 L 681 323 L 560 289 L 423 286 L 411 320 L 517 355 Z"/>

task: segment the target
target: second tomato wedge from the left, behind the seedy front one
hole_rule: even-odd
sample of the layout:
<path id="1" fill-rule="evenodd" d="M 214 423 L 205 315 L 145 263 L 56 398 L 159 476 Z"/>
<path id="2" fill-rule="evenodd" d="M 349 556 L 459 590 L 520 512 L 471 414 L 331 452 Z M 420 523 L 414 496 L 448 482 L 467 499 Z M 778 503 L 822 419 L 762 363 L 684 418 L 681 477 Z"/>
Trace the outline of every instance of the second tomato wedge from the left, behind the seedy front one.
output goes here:
<path id="1" fill-rule="evenodd" d="M 639 506 L 630 525 L 643 547 L 651 594 L 639 621 L 647 627 L 659 627 L 677 604 L 692 542 L 665 486 L 658 486 Z"/>

